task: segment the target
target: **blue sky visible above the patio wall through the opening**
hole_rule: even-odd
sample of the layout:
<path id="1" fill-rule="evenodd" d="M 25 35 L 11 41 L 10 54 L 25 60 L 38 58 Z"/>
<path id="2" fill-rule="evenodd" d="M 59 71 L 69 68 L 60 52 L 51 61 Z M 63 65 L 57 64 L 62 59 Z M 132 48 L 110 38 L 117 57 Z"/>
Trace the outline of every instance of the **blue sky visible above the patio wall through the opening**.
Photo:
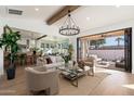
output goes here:
<path id="1" fill-rule="evenodd" d="M 120 36 L 120 37 L 124 39 L 124 36 Z M 118 41 L 116 41 L 116 38 L 118 38 L 118 37 L 106 38 L 106 43 L 104 46 L 117 46 Z M 124 45 L 124 40 L 121 40 L 120 45 L 123 46 Z"/>

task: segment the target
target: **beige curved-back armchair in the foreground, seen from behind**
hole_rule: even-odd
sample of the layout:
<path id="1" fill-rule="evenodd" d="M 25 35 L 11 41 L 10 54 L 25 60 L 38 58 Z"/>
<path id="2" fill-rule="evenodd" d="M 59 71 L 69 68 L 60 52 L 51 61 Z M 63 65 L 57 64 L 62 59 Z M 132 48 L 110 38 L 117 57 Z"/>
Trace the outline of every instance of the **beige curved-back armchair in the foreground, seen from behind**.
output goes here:
<path id="1" fill-rule="evenodd" d="M 45 90 L 48 94 L 58 93 L 58 74 L 45 67 L 26 67 L 27 89 L 32 92 Z"/>

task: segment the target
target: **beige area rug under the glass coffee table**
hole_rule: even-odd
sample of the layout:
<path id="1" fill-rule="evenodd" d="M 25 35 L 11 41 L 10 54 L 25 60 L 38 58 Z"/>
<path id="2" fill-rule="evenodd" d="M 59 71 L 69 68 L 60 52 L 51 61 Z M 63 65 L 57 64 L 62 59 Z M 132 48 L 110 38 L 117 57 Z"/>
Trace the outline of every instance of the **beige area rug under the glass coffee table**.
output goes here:
<path id="1" fill-rule="evenodd" d="M 83 76 L 79 78 L 78 87 L 72 86 L 67 79 L 59 77 L 58 96 L 88 96 L 109 75 L 108 73 L 96 73 L 94 76 Z"/>

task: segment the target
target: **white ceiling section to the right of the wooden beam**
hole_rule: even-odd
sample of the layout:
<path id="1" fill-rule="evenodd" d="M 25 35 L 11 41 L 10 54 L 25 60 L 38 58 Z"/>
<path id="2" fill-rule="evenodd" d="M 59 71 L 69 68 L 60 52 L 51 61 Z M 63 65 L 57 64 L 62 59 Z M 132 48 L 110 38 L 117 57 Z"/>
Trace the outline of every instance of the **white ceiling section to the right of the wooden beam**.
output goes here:
<path id="1" fill-rule="evenodd" d="M 129 20 L 134 20 L 133 7 L 115 7 L 115 5 L 89 5 L 81 7 L 71 13 L 81 31 L 96 27 L 107 26 Z M 55 25 L 63 24 L 65 18 L 56 22 Z"/>

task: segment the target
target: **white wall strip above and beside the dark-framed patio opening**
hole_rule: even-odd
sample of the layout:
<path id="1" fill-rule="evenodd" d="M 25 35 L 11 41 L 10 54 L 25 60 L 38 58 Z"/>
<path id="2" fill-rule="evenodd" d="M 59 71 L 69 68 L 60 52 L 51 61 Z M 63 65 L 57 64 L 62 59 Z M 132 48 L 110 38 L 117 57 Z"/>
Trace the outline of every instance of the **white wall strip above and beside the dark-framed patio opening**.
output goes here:
<path id="1" fill-rule="evenodd" d="M 97 27 L 97 28 L 82 31 L 81 34 L 76 36 L 76 39 L 73 38 L 71 40 L 72 45 L 75 47 L 75 52 L 76 52 L 75 54 L 77 54 L 77 37 L 86 36 L 86 35 L 94 35 L 94 34 L 99 34 L 99 33 L 105 33 L 105 31 L 110 31 L 110 30 L 117 30 L 117 29 L 122 29 L 122 28 L 128 28 L 128 27 L 132 27 L 132 38 L 134 39 L 134 31 L 133 31 L 134 30 L 134 20 L 120 22 L 120 23 L 116 23 L 116 24 L 111 24 L 111 25 L 107 25 L 107 26 Z M 134 40 L 132 40 L 132 51 L 134 51 Z M 134 53 L 132 52 L 132 60 L 133 59 L 134 59 Z M 132 73 L 134 74 L 134 62 L 133 61 L 132 61 Z"/>

